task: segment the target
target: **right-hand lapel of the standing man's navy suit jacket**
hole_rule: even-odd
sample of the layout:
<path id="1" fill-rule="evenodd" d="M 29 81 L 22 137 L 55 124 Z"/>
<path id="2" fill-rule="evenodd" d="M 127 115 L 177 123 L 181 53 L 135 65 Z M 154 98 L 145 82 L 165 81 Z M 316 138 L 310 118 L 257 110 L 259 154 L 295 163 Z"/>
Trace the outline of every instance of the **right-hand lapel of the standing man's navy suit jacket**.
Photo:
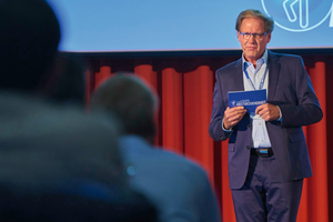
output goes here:
<path id="1" fill-rule="evenodd" d="M 278 57 L 269 51 L 269 97 L 268 101 L 272 101 L 278 85 L 279 74 L 280 74 L 280 62 L 278 61 Z"/>

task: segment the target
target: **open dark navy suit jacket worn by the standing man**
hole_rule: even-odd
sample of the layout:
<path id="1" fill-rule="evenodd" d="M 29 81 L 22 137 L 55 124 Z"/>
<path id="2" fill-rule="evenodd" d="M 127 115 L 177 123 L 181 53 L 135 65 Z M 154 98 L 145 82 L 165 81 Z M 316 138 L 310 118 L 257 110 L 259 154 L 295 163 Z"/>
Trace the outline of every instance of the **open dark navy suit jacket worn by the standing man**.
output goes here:
<path id="1" fill-rule="evenodd" d="M 274 155 L 285 181 L 311 176 L 302 125 L 319 122 L 323 113 L 303 60 L 299 56 L 279 54 L 269 50 L 268 65 L 268 103 L 279 105 L 282 112 L 282 121 L 266 122 Z M 250 117 L 245 114 L 232 133 L 222 130 L 222 119 L 229 107 L 228 92 L 244 90 L 242 59 L 219 69 L 215 77 L 209 132 L 215 141 L 229 139 L 230 188 L 240 189 L 245 182 L 250 161 Z"/>

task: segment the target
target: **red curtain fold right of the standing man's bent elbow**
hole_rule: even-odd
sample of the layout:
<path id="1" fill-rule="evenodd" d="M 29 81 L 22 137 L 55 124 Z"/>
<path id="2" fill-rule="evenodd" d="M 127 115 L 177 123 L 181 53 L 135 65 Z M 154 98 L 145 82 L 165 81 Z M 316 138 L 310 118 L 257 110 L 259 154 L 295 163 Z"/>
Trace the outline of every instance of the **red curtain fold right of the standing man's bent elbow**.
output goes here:
<path id="1" fill-rule="evenodd" d="M 323 120 L 306 127 L 306 143 L 312 163 L 313 176 L 307 180 L 307 202 L 311 203 L 307 221 L 329 221 L 327 212 L 327 145 L 326 145 L 326 89 L 325 63 L 315 61 L 314 68 L 309 68 L 313 89 L 323 110 Z M 307 205 L 309 206 L 309 205 Z M 303 212 L 304 212 L 303 211 Z M 302 213 L 302 212 L 301 212 Z"/>

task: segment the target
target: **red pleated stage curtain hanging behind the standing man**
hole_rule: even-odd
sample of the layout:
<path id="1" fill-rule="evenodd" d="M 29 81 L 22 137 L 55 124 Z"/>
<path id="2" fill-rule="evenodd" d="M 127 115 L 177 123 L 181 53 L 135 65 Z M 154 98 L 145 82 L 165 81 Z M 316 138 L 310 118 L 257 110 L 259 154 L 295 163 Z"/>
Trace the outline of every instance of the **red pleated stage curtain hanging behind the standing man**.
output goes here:
<path id="1" fill-rule="evenodd" d="M 302 56 L 302 54 L 301 54 Z M 160 98 L 157 117 L 159 133 L 157 144 L 165 150 L 183 154 L 202 165 L 216 192 L 223 221 L 235 222 L 231 191 L 228 179 L 228 141 L 214 142 L 208 132 L 214 72 L 218 68 L 239 57 L 188 57 L 188 58 L 103 58 L 87 60 L 95 70 L 88 72 L 93 91 L 102 81 L 119 71 L 134 72 L 148 81 Z M 304 180 L 299 211 L 299 222 L 329 222 L 329 192 L 333 169 L 330 163 L 333 138 L 330 139 L 332 111 L 330 94 L 333 93 L 332 56 L 304 56 L 304 63 L 319 97 L 324 118 L 321 122 L 304 127 L 313 176 Z M 89 97 L 88 97 L 89 99 Z M 332 161 L 331 161 L 332 162 Z"/>

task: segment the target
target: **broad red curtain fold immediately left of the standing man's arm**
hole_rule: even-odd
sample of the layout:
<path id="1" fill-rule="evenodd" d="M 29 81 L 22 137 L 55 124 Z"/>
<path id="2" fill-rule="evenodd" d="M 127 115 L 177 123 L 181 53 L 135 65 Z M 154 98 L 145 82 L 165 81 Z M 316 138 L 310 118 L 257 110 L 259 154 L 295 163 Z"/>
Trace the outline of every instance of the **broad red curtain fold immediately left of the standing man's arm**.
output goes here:
<path id="1" fill-rule="evenodd" d="M 208 65 L 184 73 L 184 154 L 210 172 L 213 182 L 213 141 L 209 135 L 212 81 Z"/>

